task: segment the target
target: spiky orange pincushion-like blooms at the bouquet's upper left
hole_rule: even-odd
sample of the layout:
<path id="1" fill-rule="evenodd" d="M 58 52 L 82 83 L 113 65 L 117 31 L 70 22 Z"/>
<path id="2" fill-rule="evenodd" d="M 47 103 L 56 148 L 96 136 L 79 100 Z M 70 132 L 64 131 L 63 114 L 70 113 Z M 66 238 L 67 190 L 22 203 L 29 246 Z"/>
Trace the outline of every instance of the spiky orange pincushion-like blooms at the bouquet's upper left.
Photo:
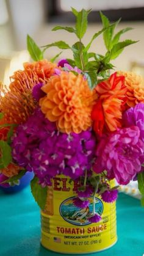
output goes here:
<path id="1" fill-rule="evenodd" d="M 0 104 L 5 122 L 20 124 L 27 120 L 38 104 L 32 97 L 33 87 L 40 82 L 45 84 L 55 67 L 48 60 L 26 63 L 24 70 L 16 71 L 10 78 L 9 89 L 1 84 Z"/>

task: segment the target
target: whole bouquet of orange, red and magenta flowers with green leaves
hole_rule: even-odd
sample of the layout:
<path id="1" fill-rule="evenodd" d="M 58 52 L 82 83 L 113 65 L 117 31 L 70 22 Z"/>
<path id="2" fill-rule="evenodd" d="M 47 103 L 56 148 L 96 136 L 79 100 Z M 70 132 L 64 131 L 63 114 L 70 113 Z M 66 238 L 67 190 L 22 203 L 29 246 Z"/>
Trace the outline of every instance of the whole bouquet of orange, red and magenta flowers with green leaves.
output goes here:
<path id="1" fill-rule="evenodd" d="M 77 36 L 69 46 L 63 41 L 38 48 L 27 36 L 27 48 L 34 62 L 15 71 L 10 86 L 1 84 L 0 169 L 2 183 L 15 184 L 27 172 L 34 172 L 32 194 L 45 209 L 48 186 L 56 175 L 79 180 L 74 205 L 88 207 L 88 197 L 95 194 L 104 202 L 117 199 L 118 187 L 110 186 L 115 178 L 120 185 L 139 181 L 144 205 L 144 84 L 131 72 L 113 71 L 111 60 L 124 47 L 135 43 L 120 42 L 131 27 L 114 34 L 119 21 L 110 24 L 103 14 L 103 29 L 84 46 L 90 10 L 72 9 L 75 27 L 56 26 Z M 106 54 L 89 51 L 93 41 L 103 34 Z M 56 46 L 71 49 L 73 59 L 55 63 L 43 57 L 46 49 Z M 110 70 L 111 74 L 110 75 Z M 101 216 L 87 216 L 99 222 Z"/>

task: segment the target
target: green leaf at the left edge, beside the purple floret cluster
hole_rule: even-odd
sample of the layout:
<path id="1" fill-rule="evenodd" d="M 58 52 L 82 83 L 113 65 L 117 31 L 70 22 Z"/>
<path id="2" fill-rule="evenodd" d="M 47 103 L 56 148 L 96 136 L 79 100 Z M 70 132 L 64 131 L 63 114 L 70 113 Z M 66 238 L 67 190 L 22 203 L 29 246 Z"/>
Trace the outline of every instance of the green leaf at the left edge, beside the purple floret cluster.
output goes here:
<path id="1" fill-rule="evenodd" d="M 1 158 L 0 158 L 0 169 L 3 169 L 9 166 L 10 162 L 12 161 L 12 149 L 9 144 L 5 141 L 0 141 L 0 148 L 1 148 Z"/>

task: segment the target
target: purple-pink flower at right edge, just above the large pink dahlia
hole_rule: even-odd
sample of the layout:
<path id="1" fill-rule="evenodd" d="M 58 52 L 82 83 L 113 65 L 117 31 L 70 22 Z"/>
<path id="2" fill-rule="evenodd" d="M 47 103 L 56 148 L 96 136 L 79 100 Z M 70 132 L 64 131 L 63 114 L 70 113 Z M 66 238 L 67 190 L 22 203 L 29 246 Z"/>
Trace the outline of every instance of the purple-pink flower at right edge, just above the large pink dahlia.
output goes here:
<path id="1" fill-rule="evenodd" d="M 140 139 L 144 142 L 144 104 L 139 103 L 134 108 L 129 108 L 123 114 L 123 125 L 125 127 L 138 126 Z"/>

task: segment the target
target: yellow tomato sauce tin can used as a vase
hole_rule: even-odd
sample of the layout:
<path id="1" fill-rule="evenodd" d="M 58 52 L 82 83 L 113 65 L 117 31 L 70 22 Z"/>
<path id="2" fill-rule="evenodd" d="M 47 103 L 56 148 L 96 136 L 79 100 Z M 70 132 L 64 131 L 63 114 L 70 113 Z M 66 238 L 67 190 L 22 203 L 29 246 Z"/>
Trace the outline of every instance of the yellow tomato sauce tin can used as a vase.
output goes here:
<path id="1" fill-rule="evenodd" d="M 102 220 L 90 224 L 85 218 L 92 212 L 89 207 L 80 209 L 73 205 L 79 184 L 64 175 L 55 177 L 48 188 L 45 211 L 41 211 L 41 244 L 62 254 L 88 254 L 99 252 L 117 242 L 115 202 L 105 203 L 95 197 L 95 211 Z"/>

